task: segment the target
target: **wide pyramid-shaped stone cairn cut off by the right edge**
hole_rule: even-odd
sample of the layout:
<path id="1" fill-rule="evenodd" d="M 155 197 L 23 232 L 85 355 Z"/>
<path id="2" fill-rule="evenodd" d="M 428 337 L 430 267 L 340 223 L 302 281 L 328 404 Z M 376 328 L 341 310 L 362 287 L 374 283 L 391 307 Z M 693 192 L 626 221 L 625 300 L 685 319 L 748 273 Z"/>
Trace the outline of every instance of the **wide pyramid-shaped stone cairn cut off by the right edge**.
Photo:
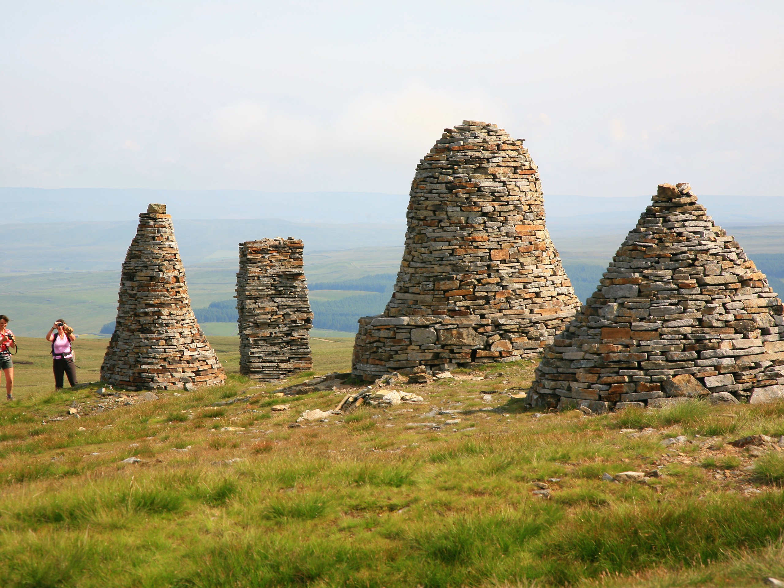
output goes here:
<path id="1" fill-rule="evenodd" d="M 536 370 L 535 407 L 784 397 L 782 303 L 688 183 L 661 184 Z"/>

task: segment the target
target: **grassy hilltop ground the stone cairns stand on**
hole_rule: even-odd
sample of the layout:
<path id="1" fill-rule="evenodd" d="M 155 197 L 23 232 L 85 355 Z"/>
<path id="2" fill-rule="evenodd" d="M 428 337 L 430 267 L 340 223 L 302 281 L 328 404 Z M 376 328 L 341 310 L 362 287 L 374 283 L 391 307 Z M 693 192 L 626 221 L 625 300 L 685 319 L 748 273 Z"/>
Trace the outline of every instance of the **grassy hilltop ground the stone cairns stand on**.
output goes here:
<path id="1" fill-rule="evenodd" d="M 236 337 L 211 339 L 227 385 L 149 401 L 102 397 L 97 384 L 55 392 L 48 344 L 20 339 L 17 400 L 0 407 L 0 585 L 763 586 L 784 576 L 784 452 L 728 444 L 784 434 L 784 404 L 539 415 L 512 397 L 532 379 L 526 362 L 394 384 L 425 401 L 292 428 L 359 386 L 278 397 L 280 384 L 238 375 Z M 82 381 L 98 379 L 105 345 L 78 341 Z M 289 383 L 349 368 L 350 339 L 313 349 L 314 372 Z M 602 479 L 628 470 L 648 476 Z"/>

